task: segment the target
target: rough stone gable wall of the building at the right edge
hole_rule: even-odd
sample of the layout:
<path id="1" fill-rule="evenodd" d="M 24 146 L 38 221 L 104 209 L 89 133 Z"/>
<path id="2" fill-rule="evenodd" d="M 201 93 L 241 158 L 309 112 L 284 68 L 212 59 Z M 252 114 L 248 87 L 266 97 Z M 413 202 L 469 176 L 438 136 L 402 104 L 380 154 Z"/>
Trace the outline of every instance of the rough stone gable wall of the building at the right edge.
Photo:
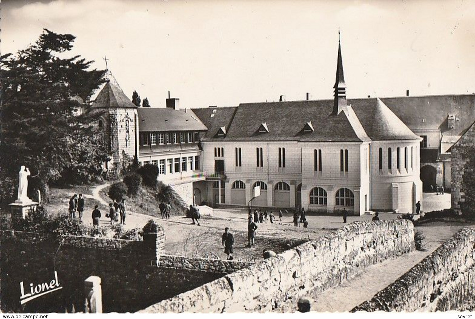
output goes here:
<path id="1" fill-rule="evenodd" d="M 450 197 L 452 209 L 458 213 L 466 213 L 464 202 L 466 180 L 464 174 L 467 171 L 473 171 L 475 168 L 474 150 L 475 150 L 475 125 L 472 125 L 466 133 L 451 148 L 451 187 Z M 470 159 L 472 158 L 472 161 Z M 470 181 L 473 182 L 473 181 Z"/>

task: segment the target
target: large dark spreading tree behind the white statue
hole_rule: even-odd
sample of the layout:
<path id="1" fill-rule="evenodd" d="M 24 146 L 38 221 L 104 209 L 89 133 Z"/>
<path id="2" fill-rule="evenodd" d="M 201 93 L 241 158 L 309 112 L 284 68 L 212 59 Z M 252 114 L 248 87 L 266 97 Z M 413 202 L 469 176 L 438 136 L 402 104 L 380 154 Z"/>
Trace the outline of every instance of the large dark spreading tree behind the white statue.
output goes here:
<path id="1" fill-rule="evenodd" d="M 89 70 L 93 61 L 80 55 L 66 57 L 74 40 L 44 29 L 35 44 L 0 57 L 0 180 L 17 180 L 20 165 L 26 165 L 44 197 L 48 183 L 64 176 L 90 180 L 107 158 L 95 128 L 85 125 L 101 114 L 81 112 L 83 101 L 104 82 L 104 71 Z"/>

